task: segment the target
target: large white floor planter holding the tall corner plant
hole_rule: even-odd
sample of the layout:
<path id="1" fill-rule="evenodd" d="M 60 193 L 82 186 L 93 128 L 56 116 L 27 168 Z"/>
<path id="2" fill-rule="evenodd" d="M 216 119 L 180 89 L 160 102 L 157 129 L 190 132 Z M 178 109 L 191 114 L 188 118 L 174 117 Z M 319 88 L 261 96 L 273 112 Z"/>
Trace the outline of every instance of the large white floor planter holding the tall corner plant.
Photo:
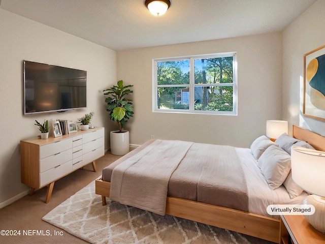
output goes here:
<path id="1" fill-rule="evenodd" d="M 113 155 L 125 155 L 129 152 L 129 137 L 128 131 L 111 131 L 111 154 Z"/>

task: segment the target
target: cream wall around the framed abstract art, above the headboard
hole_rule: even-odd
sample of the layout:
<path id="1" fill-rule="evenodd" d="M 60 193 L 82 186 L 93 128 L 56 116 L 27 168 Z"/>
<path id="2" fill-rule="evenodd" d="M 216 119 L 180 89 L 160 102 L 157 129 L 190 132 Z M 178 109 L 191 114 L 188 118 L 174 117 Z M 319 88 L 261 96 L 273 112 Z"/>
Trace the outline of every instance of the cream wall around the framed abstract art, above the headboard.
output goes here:
<path id="1" fill-rule="evenodd" d="M 304 54 L 325 45 L 325 1 L 319 0 L 283 32 L 283 119 L 325 136 L 325 123 L 302 115 Z"/>

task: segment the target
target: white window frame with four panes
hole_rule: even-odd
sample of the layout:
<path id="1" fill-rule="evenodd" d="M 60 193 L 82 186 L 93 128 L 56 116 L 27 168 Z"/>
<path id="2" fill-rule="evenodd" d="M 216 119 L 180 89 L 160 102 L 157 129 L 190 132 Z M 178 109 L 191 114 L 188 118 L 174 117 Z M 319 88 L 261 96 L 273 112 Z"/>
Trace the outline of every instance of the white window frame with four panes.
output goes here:
<path id="1" fill-rule="evenodd" d="M 233 83 L 219 83 L 219 84 L 195 84 L 194 83 L 194 59 L 201 58 L 216 58 L 224 56 L 233 56 Z M 175 84 L 175 85 L 158 85 L 157 84 L 157 64 L 159 62 L 189 60 L 189 84 Z M 158 109 L 158 87 L 189 87 L 189 109 Z M 194 87 L 195 86 L 233 86 L 233 111 L 207 111 L 194 110 Z M 154 58 L 152 59 L 152 111 L 161 113 L 194 113 L 194 114 L 219 114 L 219 115 L 237 115 L 237 52 L 223 52 L 205 55 L 180 56 L 169 58 Z"/>

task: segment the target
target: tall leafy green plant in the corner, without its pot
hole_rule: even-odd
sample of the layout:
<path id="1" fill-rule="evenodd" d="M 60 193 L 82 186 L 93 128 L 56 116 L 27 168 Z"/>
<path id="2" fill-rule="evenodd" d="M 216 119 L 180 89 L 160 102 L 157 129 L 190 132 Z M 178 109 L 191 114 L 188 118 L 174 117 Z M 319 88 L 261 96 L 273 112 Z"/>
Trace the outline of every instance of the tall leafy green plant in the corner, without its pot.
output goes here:
<path id="1" fill-rule="evenodd" d="M 123 85 L 123 80 L 119 80 L 117 85 L 103 90 L 104 95 L 109 95 L 105 98 L 106 110 L 110 113 L 110 118 L 117 122 L 119 131 L 122 132 L 124 123 L 133 117 L 132 100 L 125 96 L 133 93 L 133 90 L 128 89 L 133 85 Z"/>

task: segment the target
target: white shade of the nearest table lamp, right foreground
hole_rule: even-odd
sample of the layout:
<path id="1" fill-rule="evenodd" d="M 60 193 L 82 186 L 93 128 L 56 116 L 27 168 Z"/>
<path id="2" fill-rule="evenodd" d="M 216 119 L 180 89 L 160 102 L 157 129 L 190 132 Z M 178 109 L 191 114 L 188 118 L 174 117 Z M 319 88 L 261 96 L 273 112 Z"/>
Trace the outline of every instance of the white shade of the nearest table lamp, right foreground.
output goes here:
<path id="1" fill-rule="evenodd" d="M 325 152 L 300 146 L 291 147 L 293 180 L 305 191 L 325 197 Z"/>

